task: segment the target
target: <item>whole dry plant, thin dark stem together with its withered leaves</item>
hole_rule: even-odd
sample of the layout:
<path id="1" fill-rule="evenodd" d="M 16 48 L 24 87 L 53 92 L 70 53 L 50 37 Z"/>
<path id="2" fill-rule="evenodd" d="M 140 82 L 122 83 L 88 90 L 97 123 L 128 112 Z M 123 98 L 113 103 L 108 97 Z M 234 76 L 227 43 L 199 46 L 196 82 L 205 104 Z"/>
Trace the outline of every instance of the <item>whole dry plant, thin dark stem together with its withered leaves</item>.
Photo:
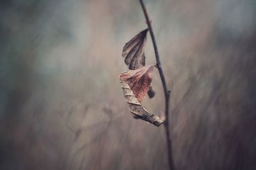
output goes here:
<path id="1" fill-rule="evenodd" d="M 174 170 L 174 162 L 172 157 L 172 140 L 170 135 L 170 121 L 169 121 L 169 101 L 170 101 L 170 90 L 167 89 L 166 81 L 164 78 L 163 69 L 161 66 L 159 53 L 157 50 L 156 39 L 152 30 L 151 22 L 148 18 L 147 10 L 143 3 L 143 0 L 139 0 L 141 8 L 145 15 L 145 19 L 148 25 L 148 29 L 141 31 L 139 34 L 134 36 L 128 43 L 125 44 L 122 56 L 124 57 L 125 64 L 129 67 L 129 71 L 121 73 L 119 76 L 121 87 L 124 92 L 125 100 L 129 103 L 129 109 L 134 118 L 140 118 L 151 124 L 159 126 L 163 123 L 157 115 L 148 113 L 148 111 L 141 106 L 141 101 L 148 92 L 148 96 L 154 96 L 155 92 L 150 88 L 152 81 L 153 65 L 145 66 L 145 53 L 144 47 L 146 44 L 147 31 L 150 32 L 152 43 L 154 46 L 154 52 L 156 55 L 156 67 L 159 71 L 159 75 L 162 81 L 165 99 L 165 118 L 164 129 L 166 132 L 166 145 L 168 149 L 168 164 L 169 169 Z M 153 94 L 152 96 L 150 94 Z"/>

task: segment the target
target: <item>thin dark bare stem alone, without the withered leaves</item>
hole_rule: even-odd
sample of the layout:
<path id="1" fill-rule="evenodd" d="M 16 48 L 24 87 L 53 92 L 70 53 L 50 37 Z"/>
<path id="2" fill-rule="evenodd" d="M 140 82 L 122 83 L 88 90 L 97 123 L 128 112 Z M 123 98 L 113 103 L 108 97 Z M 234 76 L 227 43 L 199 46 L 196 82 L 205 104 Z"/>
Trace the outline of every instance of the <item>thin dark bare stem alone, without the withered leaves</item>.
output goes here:
<path id="1" fill-rule="evenodd" d="M 167 148 L 168 148 L 168 164 L 169 164 L 170 170 L 174 170 L 175 168 L 174 168 L 174 162 L 173 162 L 173 157 L 172 157 L 172 139 L 171 139 L 171 134 L 170 134 L 170 129 L 169 129 L 169 127 L 170 127 L 170 125 L 169 125 L 170 124 L 169 123 L 170 122 L 169 121 L 170 90 L 167 89 L 163 69 L 162 69 L 162 66 L 161 66 L 160 58 L 159 58 L 159 53 L 158 53 L 158 50 L 157 50 L 156 39 L 155 39 L 153 30 L 152 30 L 152 26 L 151 26 L 151 22 L 150 22 L 149 17 L 148 17 L 147 10 L 145 8 L 143 0 L 139 0 L 139 1 L 140 1 L 140 4 L 141 4 L 141 8 L 143 10 L 143 13 L 145 15 L 145 18 L 146 18 L 146 22 L 147 22 L 147 25 L 148 25 L 148 31 L 150 32 L 150 36 L 151 36 L 151 39 L 152 39 L 152 43 L 153 43 L 154 51 L 155 51 L 155 55 L 156 55 L 156 67 L 159 71 L 160 78 L 161 78 L 162 85 L 163 85 L 164 97 L 165 97 L 165 118 L 166 118 L 166 120 L 164 122 L 164 127 L 165 127 L 165 132 L 166 132 L 166 144 L 167 144 Z"/>

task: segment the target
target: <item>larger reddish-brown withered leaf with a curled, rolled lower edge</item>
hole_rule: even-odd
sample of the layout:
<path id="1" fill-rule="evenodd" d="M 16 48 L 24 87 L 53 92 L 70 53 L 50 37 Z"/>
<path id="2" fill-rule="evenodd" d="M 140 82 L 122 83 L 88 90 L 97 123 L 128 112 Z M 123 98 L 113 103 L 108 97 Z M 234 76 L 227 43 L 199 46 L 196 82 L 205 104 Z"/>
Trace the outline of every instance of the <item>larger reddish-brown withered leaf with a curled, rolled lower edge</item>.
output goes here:
<path id="1" fill-rule="evenodd" d="M 152 81 L 154 65 L 143 66 L 136 70 L 129 70 L 119 76 L 125 100 L 129 104 L 129 109 L 134 118 L 140 118 L 150 124 L 159 126 L 163 120 L 159 116 L 149 113 L 141 106 L 141 101 L 147 94 Z"/>

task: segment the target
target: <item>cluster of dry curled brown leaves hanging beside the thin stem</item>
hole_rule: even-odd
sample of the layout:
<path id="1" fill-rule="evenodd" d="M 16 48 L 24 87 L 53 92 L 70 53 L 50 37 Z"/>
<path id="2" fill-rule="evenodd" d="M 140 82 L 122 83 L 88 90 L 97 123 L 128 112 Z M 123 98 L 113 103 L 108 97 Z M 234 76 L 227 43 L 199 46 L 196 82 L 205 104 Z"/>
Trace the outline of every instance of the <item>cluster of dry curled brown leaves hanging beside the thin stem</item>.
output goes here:
<path id="1" fill-rule="evenodd" d="M 150 87 L 154 65 L 145 66 L 144 48 L 147 31 L 148 29 L 141 31 L 125 44 L 122 56 L 125 64 L 129 67 L 129 71 L 121 73 L 119 80 L 133 117 L 159 126 L 163 120 L 141 106 L 141 101 L 147 93 L 149 97 L 154 96 L 154 90 Z"/>

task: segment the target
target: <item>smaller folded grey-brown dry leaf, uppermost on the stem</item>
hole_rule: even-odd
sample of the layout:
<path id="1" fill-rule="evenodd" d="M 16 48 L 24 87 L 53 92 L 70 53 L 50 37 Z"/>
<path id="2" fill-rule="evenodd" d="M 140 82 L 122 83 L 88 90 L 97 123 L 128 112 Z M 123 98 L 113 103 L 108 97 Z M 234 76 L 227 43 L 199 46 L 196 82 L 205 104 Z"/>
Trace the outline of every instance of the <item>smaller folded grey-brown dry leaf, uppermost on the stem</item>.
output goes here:
<path id="1" fill-rule="evenodd" d="M 148 29 L 141 31 L 124 46 L 122 56 L 129 69 L 138 69 L 141 66 L 145 66 L 144 47 L 147 39 L 147 31 Z"/>

